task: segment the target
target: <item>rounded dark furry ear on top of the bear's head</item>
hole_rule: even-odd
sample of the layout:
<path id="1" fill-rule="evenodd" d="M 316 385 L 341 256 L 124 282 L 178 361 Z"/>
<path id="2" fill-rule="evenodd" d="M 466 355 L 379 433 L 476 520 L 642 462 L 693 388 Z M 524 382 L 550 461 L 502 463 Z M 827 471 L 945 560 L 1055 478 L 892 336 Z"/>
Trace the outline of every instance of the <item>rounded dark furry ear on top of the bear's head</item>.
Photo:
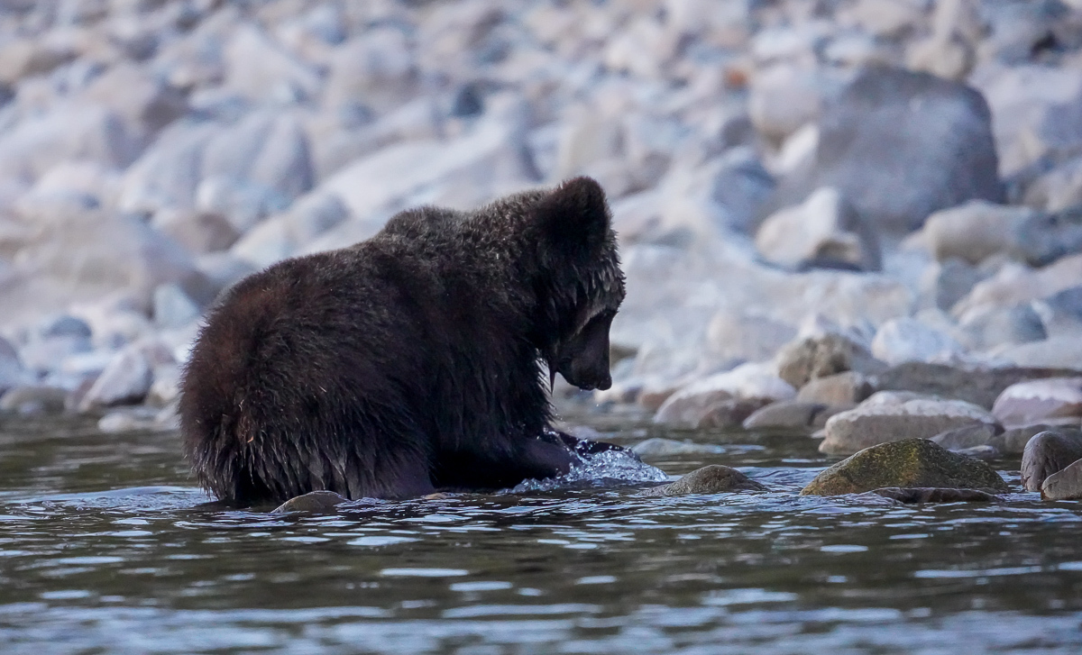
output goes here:
<path id="1" fill-rule="evenodd" d="M 608 239 L 608 203 L 602 185 L 593 178 L 568 179 L 542 198 L 533 211 L 549 243 L 563 252 L 593 253 Z"/>

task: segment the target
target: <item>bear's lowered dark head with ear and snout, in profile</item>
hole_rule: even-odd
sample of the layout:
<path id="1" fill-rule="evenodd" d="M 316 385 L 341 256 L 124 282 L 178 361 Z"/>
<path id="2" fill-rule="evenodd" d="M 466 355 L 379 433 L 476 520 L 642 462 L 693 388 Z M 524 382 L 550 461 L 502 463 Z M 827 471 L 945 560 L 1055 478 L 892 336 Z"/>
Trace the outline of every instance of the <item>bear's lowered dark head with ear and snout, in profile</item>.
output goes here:
<path id="1" fill-rule="evenodd" d="M 608 389 L 609 326 L 624 284 L 605 192 L 595 181 L 576 177 L 540 198 L 533 212 L 549 280 L 541 352 L 550 375 L 582 389 Z"/>

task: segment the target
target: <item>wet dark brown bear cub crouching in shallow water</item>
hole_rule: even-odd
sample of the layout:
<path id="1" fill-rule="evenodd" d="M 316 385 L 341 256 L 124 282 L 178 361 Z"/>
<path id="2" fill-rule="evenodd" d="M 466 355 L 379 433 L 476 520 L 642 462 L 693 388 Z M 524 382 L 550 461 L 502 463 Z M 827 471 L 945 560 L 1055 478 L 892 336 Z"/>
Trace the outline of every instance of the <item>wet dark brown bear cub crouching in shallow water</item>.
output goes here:
<path id="1" fill-rule="evenodd" d="M 577 453 L 618 446 L 555 431 L 547 389 L 557 373 L 609 388 L 623 297 L 589 177 L 472 212 L 401 212 L 222 294 L 182 374 L 185 455 L 203 489 L 240 506 L 566 473 Z"/>

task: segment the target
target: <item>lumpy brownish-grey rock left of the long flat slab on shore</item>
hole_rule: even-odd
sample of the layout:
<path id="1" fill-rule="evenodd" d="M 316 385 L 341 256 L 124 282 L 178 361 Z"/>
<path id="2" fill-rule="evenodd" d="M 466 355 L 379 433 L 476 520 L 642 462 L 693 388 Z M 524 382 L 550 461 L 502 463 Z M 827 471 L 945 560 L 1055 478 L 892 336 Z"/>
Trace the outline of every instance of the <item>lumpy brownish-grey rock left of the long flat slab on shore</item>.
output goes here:
<path id="1" fill-rule="evenodd" d="M 778 376 L 800 389 L 808 380 L 846 371 L 875 374 L 886 363 L 865 346 L 841 334 L 824 334 L 790 343 L 778 352 Z"/>

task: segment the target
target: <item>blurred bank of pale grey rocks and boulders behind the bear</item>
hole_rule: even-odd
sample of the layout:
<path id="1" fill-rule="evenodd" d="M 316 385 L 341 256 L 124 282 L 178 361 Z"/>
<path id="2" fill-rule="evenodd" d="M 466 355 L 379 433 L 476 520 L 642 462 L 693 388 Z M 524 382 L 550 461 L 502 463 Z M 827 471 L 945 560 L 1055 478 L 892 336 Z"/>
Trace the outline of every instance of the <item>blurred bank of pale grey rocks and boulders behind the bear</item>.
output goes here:
<path id="1" fill-rule="evenodd" d="M 1079 0 L 0 0 L 0 410 L 169 428 L 230 283 L 586 174 L 602 407 L 1082 420 Z"/>

